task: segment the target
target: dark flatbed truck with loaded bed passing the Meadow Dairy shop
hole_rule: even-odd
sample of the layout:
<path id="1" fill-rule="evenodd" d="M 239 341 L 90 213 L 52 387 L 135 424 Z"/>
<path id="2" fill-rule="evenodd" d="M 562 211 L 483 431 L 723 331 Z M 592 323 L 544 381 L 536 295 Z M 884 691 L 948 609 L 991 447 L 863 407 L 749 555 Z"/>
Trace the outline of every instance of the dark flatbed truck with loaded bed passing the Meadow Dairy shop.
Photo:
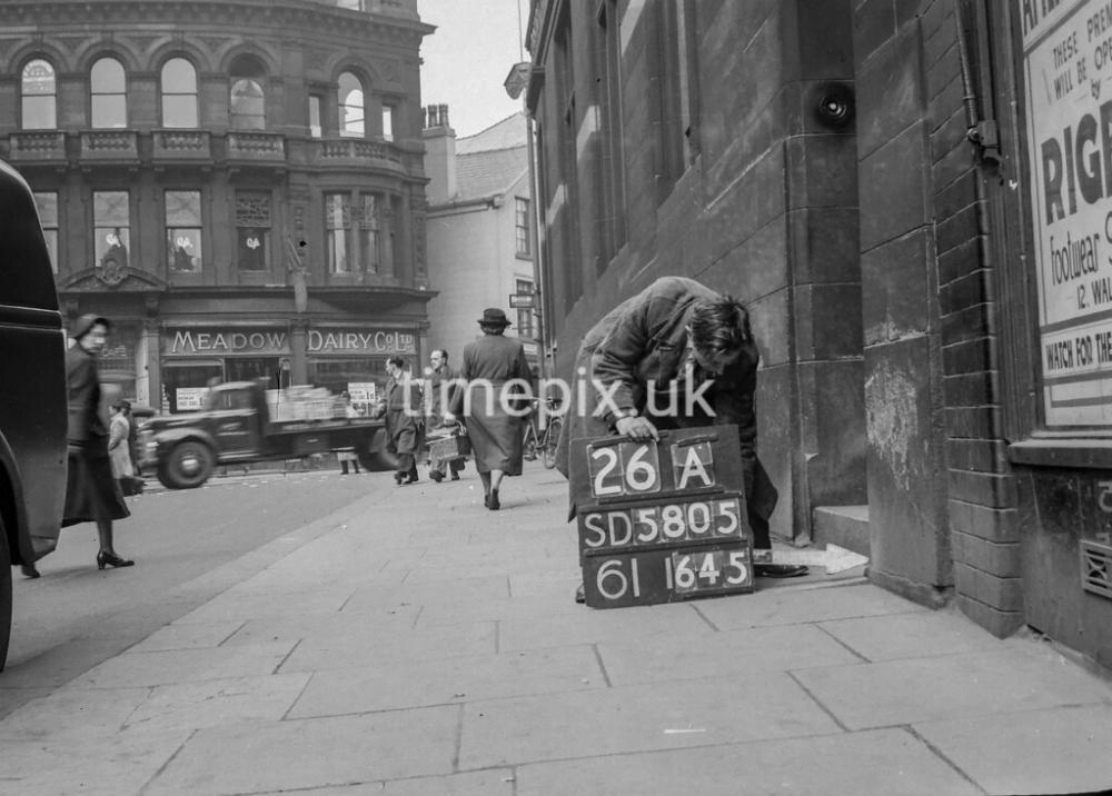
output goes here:
<path id="1" fill-rule="evenodd" d="M 200 411 L 155 417 L 140 426 L 139 464 L 170 489 L 199 487 L 220 465 L 291 459 L 342 448 L 355 449 L 368 470 L 396 467 L 397 458 L 386 450 L 381 420 L 311 409 L 287 397 L 285 390 L 265 389 L 264 382 L 216 385 Z"/>

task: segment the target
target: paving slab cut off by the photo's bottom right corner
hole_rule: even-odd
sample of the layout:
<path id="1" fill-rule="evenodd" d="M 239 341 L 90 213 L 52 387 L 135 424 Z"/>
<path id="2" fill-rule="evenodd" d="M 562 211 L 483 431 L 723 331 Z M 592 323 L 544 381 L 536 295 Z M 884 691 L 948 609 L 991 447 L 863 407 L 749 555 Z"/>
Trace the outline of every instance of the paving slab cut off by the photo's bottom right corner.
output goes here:
<path id="1" fill-rule="evenodd" d="M 930 722 L 914 729 L 989 794 L 1112 790 L 1112 704 Z"/>

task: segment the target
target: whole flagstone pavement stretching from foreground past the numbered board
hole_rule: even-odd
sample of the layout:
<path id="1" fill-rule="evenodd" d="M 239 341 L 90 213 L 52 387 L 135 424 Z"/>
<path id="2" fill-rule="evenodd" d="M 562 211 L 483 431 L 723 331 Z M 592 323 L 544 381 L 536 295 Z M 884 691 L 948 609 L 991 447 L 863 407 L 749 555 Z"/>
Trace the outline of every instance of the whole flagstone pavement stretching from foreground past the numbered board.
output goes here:
<path id="1" fill-rule="evenodd" d="M 575 605 L 564 481 L 395 487 L 0 722 L 0 793 L 1039 794 L 1112 787 L 1112 681 L 837 577 Z M 3 675 L 0 674 L 0 679 Z"/>

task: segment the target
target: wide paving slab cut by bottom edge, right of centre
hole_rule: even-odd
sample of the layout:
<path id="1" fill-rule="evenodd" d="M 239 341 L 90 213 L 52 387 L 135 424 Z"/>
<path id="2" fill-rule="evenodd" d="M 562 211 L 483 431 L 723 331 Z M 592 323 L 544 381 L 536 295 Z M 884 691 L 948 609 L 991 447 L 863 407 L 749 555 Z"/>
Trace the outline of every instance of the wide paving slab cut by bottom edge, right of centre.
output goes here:
<path id="1" fill-rule="evenodd" d="M 980 796 L 902 729 L 523 765 L 516 796 Z"/>

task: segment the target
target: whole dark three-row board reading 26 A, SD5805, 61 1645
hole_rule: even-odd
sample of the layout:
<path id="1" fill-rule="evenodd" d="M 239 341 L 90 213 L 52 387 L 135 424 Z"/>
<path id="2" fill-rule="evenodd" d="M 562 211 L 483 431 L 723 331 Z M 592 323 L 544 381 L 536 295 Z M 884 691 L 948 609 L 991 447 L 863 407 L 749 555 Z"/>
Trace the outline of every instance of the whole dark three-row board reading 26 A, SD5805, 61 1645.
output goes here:
<path id="1" fill-rule="evenodd" d="M 588 606 L 753 590 L 736 426 L 576 439 L 569 455 Z"/>

